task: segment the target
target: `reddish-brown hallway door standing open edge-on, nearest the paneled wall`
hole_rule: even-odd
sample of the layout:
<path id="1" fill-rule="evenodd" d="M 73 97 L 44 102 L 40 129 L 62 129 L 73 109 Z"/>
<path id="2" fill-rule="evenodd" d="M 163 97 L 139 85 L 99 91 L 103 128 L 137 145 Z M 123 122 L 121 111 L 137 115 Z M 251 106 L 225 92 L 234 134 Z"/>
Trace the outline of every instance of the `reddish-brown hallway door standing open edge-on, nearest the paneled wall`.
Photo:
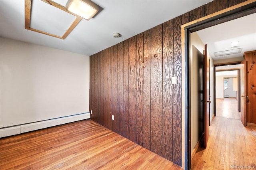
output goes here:
<path id="1" fill-rule="evenodd" d="M 209 114 L 210 114 L 210 63 L 207 55 L 207 45 L 204 45 L 204 147 L 207 146 L 209 137 Z"/>

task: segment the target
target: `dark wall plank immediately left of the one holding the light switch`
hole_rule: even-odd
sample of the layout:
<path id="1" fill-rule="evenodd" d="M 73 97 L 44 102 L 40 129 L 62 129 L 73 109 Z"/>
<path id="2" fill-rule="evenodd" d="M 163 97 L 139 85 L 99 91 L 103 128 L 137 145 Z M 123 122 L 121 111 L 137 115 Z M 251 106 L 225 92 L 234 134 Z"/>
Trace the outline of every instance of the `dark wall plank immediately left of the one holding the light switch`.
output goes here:
<path id="1" fill-rule="evenodd" d="M 173 22 L 163 24 L 163 113 L 162 156 L 172 161 L 172 74 L 173 74 Z"/>

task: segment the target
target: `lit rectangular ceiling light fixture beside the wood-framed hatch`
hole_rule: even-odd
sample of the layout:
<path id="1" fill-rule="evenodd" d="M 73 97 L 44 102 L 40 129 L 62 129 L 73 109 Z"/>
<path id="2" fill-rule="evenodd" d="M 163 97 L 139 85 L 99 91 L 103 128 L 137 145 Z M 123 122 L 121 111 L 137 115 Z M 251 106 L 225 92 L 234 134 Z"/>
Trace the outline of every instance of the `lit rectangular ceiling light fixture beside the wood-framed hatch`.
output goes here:
<path id="1" fill-rule="evenodd" d="M 68 0 L 66 9 L 86 20 L 90 20 L 99 11 L 99 6 L 90 0 Z"/>

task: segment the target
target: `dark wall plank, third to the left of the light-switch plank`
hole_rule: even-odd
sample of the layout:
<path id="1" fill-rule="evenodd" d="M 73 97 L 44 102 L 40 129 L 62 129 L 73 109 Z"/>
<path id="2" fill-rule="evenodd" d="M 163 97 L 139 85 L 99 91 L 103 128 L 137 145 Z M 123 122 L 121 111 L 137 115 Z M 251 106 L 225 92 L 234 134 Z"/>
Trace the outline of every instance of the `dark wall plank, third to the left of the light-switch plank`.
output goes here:
<path id="1" fill-rule="evenodd" d="M 151 30 L 143 35 L 143 147 L 151 150 L 150 147 L 150 119 L 151 119 Z"/>

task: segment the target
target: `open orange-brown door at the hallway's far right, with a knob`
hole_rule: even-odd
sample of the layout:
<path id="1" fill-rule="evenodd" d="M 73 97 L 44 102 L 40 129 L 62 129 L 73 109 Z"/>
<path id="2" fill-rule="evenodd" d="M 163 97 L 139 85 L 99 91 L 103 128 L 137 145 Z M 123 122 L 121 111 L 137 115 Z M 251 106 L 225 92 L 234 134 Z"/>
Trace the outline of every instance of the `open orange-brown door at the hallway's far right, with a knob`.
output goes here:
<path id="1" fill-rule="evenodd" d="M 246 97 L 247 96 L 247 61 L 241 63 L 240 94 L 241 94 L 241 121 L 246 126 Z"/>

